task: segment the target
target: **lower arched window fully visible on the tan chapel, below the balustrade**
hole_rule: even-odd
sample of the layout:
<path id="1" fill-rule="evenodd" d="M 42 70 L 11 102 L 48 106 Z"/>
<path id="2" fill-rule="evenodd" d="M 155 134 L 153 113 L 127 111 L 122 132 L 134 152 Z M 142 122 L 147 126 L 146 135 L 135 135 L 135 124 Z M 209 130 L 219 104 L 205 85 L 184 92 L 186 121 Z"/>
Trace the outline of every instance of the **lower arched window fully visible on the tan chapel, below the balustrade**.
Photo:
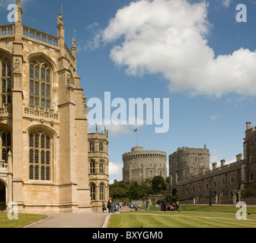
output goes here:
<path id="1" fill-rule="evenodd" d="M 43 131 L 29 134 L 29 178 L 30 180 L 50 181 L 51 138 Z"/>

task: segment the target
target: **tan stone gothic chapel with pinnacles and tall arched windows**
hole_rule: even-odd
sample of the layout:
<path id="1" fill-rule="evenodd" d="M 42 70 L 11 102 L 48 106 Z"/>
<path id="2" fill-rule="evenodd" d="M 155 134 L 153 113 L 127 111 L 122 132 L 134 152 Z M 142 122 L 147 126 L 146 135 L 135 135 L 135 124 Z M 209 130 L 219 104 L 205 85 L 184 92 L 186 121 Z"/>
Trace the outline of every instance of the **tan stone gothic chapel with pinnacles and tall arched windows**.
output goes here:
<path id="1" fill-rule="evenodd" d="M 57 36 L 24 26 L 16 4 L 15 24 L 0 26 L 0 205 L 13 201 L 19 213 L 98 211 L 108 198 L 108 138 L 88 134 L 75 39 L 69 50 L 61 14 Z M 88 151 L 91 140 L 102 147 Z M 96 174 L 88 158 L 97 158 Z"/>

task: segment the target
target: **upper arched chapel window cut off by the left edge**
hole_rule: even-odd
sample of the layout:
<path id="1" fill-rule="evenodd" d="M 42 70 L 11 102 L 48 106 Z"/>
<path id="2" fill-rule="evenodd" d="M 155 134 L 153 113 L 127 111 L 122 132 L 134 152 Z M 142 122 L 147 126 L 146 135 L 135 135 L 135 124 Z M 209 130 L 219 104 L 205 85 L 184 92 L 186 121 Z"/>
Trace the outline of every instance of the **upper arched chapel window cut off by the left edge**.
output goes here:
<path id="1" fill-rule="evenodd" d="M 0 55 L 0 80 L 2 106 L 11 103 L 11 62 Z"/>

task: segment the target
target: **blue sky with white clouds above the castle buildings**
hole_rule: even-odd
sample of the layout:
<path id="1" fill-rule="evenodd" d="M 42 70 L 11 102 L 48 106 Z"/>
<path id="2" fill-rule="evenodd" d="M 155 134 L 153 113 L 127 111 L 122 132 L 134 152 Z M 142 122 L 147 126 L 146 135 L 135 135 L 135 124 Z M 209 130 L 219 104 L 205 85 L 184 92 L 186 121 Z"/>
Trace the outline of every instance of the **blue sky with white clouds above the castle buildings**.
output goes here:
<path id="1" fill-rule="evenodd" d="M 0 3 L 2 25 L 10 3 Z M 61 4 L 88 99 L 169 98 L 169 131 L 138 126 L 139 146 L 169 155 L 206 144 L 210 163 L 243 152 L 245 122 L 256 125 L 256 1 L 21 0 L 22 24 L 56 36 Z M 247 7 L 246 23 L 235 19 L 238 4 Z M 122 179 L 136 127 L 109 127 L 110 182 Z"/>

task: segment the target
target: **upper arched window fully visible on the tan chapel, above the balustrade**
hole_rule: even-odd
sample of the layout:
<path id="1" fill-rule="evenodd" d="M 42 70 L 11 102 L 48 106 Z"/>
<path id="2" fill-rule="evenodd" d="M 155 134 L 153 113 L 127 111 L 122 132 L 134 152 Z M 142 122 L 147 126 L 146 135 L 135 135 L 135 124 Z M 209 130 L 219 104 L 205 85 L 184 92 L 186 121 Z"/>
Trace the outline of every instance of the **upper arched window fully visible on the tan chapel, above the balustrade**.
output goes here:
<path id="1" fill-rule="evenodd" d="M 30 105 L 50 109 L 51 105 L 51 78 L 50 68 L 42 61 L 30 63 Z"/>

